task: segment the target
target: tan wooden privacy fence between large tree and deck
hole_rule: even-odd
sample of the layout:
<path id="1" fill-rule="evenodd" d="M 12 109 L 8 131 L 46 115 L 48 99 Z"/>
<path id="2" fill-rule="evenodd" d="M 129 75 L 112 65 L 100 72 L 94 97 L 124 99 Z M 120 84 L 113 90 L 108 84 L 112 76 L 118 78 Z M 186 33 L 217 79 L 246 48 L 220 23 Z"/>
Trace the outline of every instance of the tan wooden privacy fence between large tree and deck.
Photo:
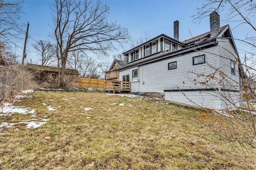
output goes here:
<path id="1" fill-rule="evenodd" d="M 76 81 L 80 87 L 105 88 L 106 80 L 78 77 Z"/>

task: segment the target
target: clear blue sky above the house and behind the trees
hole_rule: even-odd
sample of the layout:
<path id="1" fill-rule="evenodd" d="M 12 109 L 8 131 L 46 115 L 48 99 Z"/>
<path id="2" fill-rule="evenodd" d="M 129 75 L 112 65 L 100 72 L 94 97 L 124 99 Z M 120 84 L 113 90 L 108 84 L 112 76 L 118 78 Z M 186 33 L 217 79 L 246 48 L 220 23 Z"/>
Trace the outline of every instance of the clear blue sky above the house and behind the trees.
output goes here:
<path id="1" fill-rule="evenodd" d="M 178 20 L 179 38 L 180 41 L 197 36 L 210 31 L 209 17 L 204 18 L 200 23 L 193 23 L 192 15 L 196 14 L 197 8 L 202 5 L 202 1 L 192 0 L 102 0 L 110 7 L 108 20 L 116 21 L 122 27 L 128 29 L 128 32 L 134 40 L 148 34 L 151 38 L 162 33 L 173 37 L 173 22 Z M 51 0 L 25 0 L 22 16 L 22 22 L 30 23 L 29 35 L 35 40 L 51 40 L 49 37 L 52 32 L 52 10 L 50 9 Z M 228 9 L 226 9 L 228 10 Z M 236 23 L 226 23 L 225 15 L 227 11 L 220 12 L 220 26 L 230 24 L 233 29 Z M 24 30 L 26 26 L 24 26 Z M 245 25 L 239 26 L 232 30 L 233 37 L 243 38 L 245 34 L 255 35 L 250 32 Z M 192 36 L 191 36 L 192 35 Z M 25 37 L 25 34 L 21 36 Z M 28 39 L 27 59 L 32 63 L 40 63 L 37 54 L 35 53 L 32 43 L 35 43 L 32 38 Z M 17 45 L 23 47 L 24 38 L 16 42 Z M 240 44 L 236 44 L 238 48 L 244 48 Z M 110 57 L 106 60 L 112 61 L 113 53 L 120 53 L 128 50 L 130 45 L 124 45 L 124 49 L 117 46 L 119 50 L 112 51 Z M 22 54 L 20 48 L 16 47 L 16 55 Z M 240 57 L 244 54 L 240 53 Z"/>

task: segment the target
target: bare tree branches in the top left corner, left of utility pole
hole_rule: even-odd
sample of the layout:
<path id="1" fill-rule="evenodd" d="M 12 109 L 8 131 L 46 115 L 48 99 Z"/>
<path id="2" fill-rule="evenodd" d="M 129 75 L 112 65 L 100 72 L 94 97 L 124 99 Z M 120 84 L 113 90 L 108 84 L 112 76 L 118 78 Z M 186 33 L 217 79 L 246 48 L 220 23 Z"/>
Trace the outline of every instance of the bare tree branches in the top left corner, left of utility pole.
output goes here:
<path id="1" fill-rule="evenodd" d="M 18 23 L 22 4 L 23 0 L 0 0 L 0 38 L 10 41 L 10 38 L 24 32 Z"/>

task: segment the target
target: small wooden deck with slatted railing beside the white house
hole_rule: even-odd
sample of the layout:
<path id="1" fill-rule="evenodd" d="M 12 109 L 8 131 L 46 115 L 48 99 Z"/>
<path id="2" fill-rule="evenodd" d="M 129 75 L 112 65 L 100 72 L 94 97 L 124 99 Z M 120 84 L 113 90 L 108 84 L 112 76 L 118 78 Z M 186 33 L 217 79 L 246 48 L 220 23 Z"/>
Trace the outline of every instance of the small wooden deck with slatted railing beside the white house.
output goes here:
<path id="1" fill-rule="evenodd" d="M 129 81 L 106 81 L 105 91 L 131 91 L 131 82 Z"/>

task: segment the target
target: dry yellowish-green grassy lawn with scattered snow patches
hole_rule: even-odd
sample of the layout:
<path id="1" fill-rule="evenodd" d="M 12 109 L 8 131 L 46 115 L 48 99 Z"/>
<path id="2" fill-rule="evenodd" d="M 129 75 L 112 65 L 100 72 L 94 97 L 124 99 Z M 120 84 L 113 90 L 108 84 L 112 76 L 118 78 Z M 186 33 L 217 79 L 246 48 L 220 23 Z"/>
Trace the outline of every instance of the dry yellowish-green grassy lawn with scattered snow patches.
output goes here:
<path id="1" fill-rule="evenodd" d="M 0 169 L 256 168 L 253 162 L 241 161 L 243 153 L 196 123 L 200 111 L 105 93 L 28 95 L 33 98 L 16 105 L 35 109 L 35 119 L 49 121 L 38 128 L 4 127 Z M 55 110 L 49 111 L 49 105 Z M 0 119 L 18 123 L 31 117 L 14 114 Z M 254 154 L 248 158 L 256 160 Z"/>

